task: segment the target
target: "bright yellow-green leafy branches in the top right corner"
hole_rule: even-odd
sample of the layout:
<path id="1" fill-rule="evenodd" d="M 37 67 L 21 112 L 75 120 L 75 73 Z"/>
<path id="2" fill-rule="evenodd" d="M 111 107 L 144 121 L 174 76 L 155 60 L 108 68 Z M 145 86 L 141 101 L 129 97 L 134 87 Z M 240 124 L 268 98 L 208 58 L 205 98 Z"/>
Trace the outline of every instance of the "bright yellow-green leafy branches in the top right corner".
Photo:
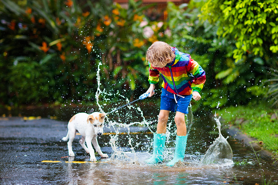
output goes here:
<path id="1" fill-rule="evenodd" d="M 267 57 L 278 52 L 278 2 L 275 0 L 209 0 L 202 7 L 202 18 L 211 23 L 219 21 L 217 34 L 234 36 L 236 62 L 244 55 Z"/>

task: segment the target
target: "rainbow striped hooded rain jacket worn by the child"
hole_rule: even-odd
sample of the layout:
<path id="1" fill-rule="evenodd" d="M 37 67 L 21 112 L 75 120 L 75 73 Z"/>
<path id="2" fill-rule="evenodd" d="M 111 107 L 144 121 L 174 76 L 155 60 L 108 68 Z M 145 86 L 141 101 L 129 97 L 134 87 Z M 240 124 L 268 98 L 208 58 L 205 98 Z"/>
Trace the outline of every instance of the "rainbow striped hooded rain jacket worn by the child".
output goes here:
<path id="1" fill-rule="evenodd" d="M 164 68 L 152 67 L 149 62 L 149 82 L 157 84 L 162 74 L 162 87 L 173 94 L 190 95 L 192 91 L 202 90 L 206 75 L 201 66 L 189 54 L 179 52 L 175 47 L 176 58 Z"/>

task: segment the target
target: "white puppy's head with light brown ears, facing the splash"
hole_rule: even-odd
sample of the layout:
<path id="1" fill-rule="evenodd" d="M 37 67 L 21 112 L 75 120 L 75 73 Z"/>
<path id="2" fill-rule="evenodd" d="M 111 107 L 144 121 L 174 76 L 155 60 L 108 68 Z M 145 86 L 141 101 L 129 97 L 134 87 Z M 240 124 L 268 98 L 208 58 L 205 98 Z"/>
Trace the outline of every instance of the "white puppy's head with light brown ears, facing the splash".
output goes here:
<path id="1" fill-rule="evenodd" d="M 105 113 L 91 113 L 87 118 L 87 123 L 92 124 L 95 135 L 102 135 L 103 134 L 103 126 L 104 126 L 104 119 L 105 119 Z"/>

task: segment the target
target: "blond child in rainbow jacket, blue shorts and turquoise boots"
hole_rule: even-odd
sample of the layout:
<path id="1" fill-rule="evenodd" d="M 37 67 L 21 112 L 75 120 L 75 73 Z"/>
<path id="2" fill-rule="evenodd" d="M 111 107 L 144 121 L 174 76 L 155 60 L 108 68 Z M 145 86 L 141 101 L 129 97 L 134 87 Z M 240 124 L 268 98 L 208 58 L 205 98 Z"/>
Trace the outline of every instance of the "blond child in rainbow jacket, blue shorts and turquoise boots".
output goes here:
<path id="1" fill-rule="evenodd" d="M 159 73 L 162 75 L 162 94 L 158 125 L 154 134 L 154 151 L 151 158 L 145 162 L 155 164 L 162 162 L 166 140 L 166 127 L 170 111 L 175 112 L 177 126 L 175 156 L 167 166 L 174 166 L 178 161 L 183 161 L 186 148 L 187 135 L 184 114 L 188 113 L 191 97 L 198 101 L 199 94 L 204 86 L 206 76 L 200 65 L 186 53 L 179 52 L 165 42 L 154 42 L 146 52 L 146 60 L 150 66 L 150 92 L 154 95 L 154 85 L 158 83 Z"/>

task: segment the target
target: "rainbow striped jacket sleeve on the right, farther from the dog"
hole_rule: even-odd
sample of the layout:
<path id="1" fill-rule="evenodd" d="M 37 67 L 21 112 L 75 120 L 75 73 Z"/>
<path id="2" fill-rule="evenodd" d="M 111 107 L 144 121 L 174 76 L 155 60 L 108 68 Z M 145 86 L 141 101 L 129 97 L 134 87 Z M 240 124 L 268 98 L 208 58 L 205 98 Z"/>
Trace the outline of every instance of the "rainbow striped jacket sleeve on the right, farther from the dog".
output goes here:
<path id="1" fill-rule="evenodd" d="M 191 58 L 189 57 L 189 73 L 194 76 L 194 80 L 191 84 L 192 91 L 200 92 L 204 87 L 204 83 L 206 81 L 206 73 L 204 72 L 203 68 Z"/>

